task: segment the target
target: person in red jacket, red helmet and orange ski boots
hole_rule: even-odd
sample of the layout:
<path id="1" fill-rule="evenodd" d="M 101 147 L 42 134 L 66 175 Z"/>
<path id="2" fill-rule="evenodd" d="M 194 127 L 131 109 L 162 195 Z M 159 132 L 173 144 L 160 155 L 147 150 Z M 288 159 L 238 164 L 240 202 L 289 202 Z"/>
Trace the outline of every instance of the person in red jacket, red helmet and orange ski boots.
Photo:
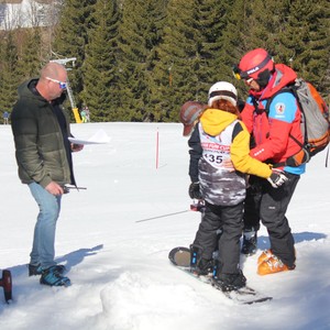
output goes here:
<path id="1" fill-rule="evenodd" d="M 258 274 L 294 270 L 295 242 L 285 215 L 299 177 L 305 172 L 305 165 L 293 167 L 284 164 L 289 156 L 300 151 L 294 139 L 302 143 L 301 114 L 292 92 L 277 92 L 293 84 L 297 75 L 286 65 L 275 64 L 263 48 L 246 53 L 234 67 L 234 75 L 250 88 L 241 113 L 254 141 L 250 155 L 261 162 L 274 164 L 288 177 L 279 189 L 274 189 L 258 178 L 251 178 L 245 199 L 242 252 L 255 253 L 261 219 L 267 228 L 271 249 L 258 258 Z M 266 103 L 271 98 L 270 111 L 266 111 Z"/>

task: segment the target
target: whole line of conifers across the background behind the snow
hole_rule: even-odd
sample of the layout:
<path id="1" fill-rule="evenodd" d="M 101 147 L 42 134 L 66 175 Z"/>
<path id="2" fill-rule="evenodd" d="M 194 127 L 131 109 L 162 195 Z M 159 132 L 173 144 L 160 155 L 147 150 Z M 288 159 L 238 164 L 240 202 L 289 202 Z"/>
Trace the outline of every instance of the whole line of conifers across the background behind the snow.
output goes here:
<path id="1" fill-rule="evenodd" d="M 329 101 L 328 0 L 65 0 L 59 13 L 55 26 L 0 33 L 0 111 L 44 63 L 76 57 L 69 81 L 92 121 L 177 121 L 179 107 L 206 101 L 218 80 L 244 99 L 232 66 L 254 47 Z"/>

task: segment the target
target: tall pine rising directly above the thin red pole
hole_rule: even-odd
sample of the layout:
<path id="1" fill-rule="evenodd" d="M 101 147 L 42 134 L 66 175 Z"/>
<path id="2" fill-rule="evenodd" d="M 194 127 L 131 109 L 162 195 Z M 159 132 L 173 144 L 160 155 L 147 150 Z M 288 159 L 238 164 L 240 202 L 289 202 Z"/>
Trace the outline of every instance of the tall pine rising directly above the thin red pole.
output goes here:
<path id="1" fill-rule="evenodd" d="M 169 0 L 163 42 L 157 47 L 152 103 L 156 121 L 177 121 L 178 107 L 199 98 L 202 36 L 196 1 Z"/>

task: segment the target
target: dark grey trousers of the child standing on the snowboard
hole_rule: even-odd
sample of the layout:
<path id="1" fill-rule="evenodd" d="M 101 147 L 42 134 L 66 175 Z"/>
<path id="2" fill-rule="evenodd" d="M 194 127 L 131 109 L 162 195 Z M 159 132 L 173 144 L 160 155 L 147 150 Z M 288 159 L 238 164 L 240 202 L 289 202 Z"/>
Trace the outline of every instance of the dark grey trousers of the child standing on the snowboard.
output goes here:
<path id="1" fill-rule="evenodd" d="M 215 206 L 206 202 L 194 241 L 202 250 L 201 257 L 212 258 L 218 248 L 218 273 L 235 274 L 240 264 L 240 238 L 243 229 L 243 202 Z M 221 230 L 219 238 L 218 233 Z"/>

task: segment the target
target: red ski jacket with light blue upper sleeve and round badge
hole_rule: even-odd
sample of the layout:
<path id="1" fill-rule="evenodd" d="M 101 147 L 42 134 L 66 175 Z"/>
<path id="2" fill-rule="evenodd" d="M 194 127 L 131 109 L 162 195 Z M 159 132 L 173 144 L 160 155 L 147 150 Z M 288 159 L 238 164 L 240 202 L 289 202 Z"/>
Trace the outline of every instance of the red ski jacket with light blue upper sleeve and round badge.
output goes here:
<path id="1" fill-rule="evenodd" d="M 282 163 L 300 150 L 300 146 L 289 138 L 293 135 L 301 143 L 304 140 L 300 130 L 301 114 L 294 95 L 289 91 L 280 92 L 267 106 L 267 101 L 275 94 L 293 84 L 296 78 L 297 75 L 292 68 L 277 64 L 268 85 L 262 91 L 250 90 L 242 111 L 242 120 L 255 142 L 250 155 L 258 161 Z M 268 113 L 265 110 L 266 106 L 270 109 Z M 299 175 L 305 172 L 305 165 L 285 166 L 284 169 Z"/>

